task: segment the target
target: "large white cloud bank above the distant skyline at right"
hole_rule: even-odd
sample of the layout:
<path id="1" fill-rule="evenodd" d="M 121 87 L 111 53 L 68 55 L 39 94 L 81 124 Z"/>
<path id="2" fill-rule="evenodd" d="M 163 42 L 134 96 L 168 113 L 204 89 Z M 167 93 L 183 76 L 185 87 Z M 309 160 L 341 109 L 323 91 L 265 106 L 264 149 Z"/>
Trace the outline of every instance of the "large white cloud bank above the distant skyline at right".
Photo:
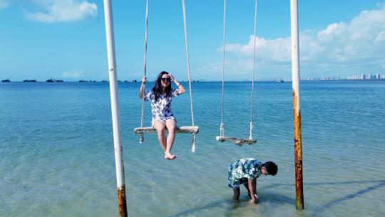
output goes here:
<path id="1" fill-rule="evenodd" d="M 303 76 L 384 73 L 385 4 L 362 11 L 348 23 L 329 24 L 321 31 L 307 30 L 299 35 L 300 66 Z M 256 69 L 288 76 L 291 71 L 291 41 L 256 37 Z M 250 71 L 254 37 L 247 44 L 227 44 L 226 69 L 229 73 Z M 222 47 L 218 51 L 222 51 Z M 231 56 L 233 55 L 233 56 Z M 261 75 L 261 74 L 260 74 Z"/>

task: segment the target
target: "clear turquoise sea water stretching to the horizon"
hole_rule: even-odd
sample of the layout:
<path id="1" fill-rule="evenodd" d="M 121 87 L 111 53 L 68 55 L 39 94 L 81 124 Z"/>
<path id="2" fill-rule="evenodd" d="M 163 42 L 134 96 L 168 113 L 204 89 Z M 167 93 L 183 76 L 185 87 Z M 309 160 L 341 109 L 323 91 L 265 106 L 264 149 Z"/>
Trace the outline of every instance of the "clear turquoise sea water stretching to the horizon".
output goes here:
<path id="1" fill-rule="evenodd" d="M 248 136 L 250 85 L 226 84 L 226 136 Z M 175 161 L 155 135 L 139 144 L 133 134 L 139 86 L 119 84 L 130 216 L 385 216 L 384 82 L 301 84 L 304 211 L 295 209 L 291 84 L 255 85 L 258 142 L 238 147 L 215 141 L 221 83 L 193 83 L 197 150 L 178 134 Z M 188 94 L 173 111 L 191 124 Z M 0 216 L 118 216 L 108 84 L 0 83 L 0 115 Z M 257 206 L 244 188 L 235 205 L 227 187 L 227 166 L 242 157 L 279 166 L 258 179 Z"/>

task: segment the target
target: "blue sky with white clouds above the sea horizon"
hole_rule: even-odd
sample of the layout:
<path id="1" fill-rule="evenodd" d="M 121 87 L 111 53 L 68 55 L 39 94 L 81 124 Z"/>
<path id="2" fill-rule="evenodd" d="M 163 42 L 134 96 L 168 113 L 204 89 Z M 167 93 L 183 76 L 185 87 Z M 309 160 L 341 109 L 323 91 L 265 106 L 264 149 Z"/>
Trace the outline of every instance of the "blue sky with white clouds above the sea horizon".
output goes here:
<path id="1" fill-rule="evenodd" d="M 192 79 L 222 79 L 222 0 L 185 0 Z M 143 76 L 145 0 L 112 1 L 119 80 Z M 252 78 L 254 0 L 226 2 L 225 79 Z M 188 79 L 182 0 L 149 0 L 148 80 Z M 385 74 L 385 0 L 301 1 L 302 77 Z M 0 0 L 0 79 L 108 80 L 102 0 Z M 255 78 L 291 78 L 289 0 L 257 1 Z"/>

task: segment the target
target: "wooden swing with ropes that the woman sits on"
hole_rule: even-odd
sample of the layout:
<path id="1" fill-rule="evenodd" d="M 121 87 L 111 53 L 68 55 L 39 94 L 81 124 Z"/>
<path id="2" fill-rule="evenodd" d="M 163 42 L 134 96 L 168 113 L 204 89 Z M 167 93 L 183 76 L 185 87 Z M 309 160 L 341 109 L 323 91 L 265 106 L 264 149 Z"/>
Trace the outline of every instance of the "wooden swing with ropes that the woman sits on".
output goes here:
<path id="1" fill-rule="evenodd" d="M 183 5 L 183 21 L 185 27 L 185 48 L 186 48 L 186 59 L 187 59 L 187 67 L 188 67 L 188 86 L 190 88 L 190 109 L 191 109 L 191 123 L 193 126 L 180 126 L 175 128 L 175 133 L 192 133 L 193 134 L 193 144 L 191 151 L 195 152 L 195 135 L 199 133 L 199 127 L 194 125 L 194 112 L 193 112 L 193 94 L 191 92 L 191 79 L 190 79 L 190 57 L 188 54 L 188 34 L 187 34 L 187 23 L 186 23 L 186 12 L 185 12 L 185 0 L 182 0 Z M 145 55 L 144 55 L 144 76 L 146 74 L 147 69 L 147 26 L 148 26 L 148 0 L 146 1 L 145 6 Z M 170 84 L 171 85 L 171 84 Z M 143 90 L 145 89 L 145 84 Z M 140 135 L 139 143 L 144 142 L 144 134 L 145 133 L 156 133 L 156 129 L 153 126 L 144 127 L 144 97 L 142 100 L 142 116 L 140 121 L 140 127 L 134 128 L 134 133 Z M 166 131 L 167 128 L 166 128 Z"/>

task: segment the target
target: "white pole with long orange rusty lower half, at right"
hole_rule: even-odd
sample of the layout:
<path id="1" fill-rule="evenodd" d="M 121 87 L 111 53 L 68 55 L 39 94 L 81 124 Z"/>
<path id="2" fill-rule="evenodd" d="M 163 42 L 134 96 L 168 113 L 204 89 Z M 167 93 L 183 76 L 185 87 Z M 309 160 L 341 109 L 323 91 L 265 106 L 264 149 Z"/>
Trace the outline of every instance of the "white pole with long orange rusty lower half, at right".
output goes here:
<path id="1" fill-rule="evenodd" d="M 295 193 L 297 209 L 304 209 L 304 189 L 302 182 L 301 104 L 299 101 L 298 0 L 290 1 L 290 11 L 292 23 L 292 89 L 294 115 Z"/>

